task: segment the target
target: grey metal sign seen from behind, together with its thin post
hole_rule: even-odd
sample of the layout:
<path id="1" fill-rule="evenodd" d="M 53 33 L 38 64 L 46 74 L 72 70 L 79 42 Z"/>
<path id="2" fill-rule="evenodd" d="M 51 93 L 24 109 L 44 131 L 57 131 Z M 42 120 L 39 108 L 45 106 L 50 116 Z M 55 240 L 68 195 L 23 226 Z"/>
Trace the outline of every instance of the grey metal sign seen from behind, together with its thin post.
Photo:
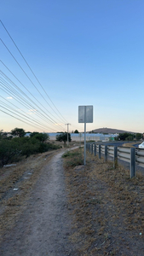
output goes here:
<path id="1" fill-rule="evenodd" d="M 78 106 L 78 123 L 84 123 L 84 166 L 86 165 L 86 123 L 93 123 L 93 106 Z"/>

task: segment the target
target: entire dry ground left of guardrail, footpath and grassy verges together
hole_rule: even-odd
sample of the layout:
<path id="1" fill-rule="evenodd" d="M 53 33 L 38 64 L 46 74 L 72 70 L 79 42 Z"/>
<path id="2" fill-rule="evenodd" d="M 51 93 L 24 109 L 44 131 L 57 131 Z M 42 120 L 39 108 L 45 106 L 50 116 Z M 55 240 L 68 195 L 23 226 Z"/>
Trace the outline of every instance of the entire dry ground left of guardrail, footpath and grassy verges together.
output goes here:
<path id="1" fill-rule="evenodd" d="M 143 176 L 78 150 L 1 170 L 1 256 L 144 255 Z"/>

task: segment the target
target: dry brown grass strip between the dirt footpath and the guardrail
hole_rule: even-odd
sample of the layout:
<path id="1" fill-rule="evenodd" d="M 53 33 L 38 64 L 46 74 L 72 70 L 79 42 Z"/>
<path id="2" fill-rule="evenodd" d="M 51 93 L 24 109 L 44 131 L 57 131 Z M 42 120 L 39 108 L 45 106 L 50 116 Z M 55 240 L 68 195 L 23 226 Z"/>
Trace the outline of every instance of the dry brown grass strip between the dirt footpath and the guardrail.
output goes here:
<path id="1" fill-rule="evenodd" d="M 73 160 L 73 159 L 72 159 Z M 87 165 L 67 167 L 66 185 L 78 255 L 144 255 L 144 180 L 130 179 L 87 153 Z M 141 235 L 140 235 L 141 234 Z"/>

